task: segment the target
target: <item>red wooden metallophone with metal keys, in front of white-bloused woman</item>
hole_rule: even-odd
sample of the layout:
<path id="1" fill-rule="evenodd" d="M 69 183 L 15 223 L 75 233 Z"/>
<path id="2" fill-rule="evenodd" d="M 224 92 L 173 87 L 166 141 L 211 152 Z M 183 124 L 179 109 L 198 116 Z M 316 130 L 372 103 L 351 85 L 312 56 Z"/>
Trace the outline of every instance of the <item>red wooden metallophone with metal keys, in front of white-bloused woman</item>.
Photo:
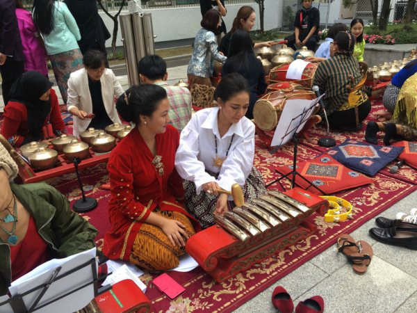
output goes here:
<path id="1" fill-rule="evenodd" d="M 218 224 L 191 236 L 186 251 L 222 282 L 313 234 L 306 219 L 328 208 L 327 200 L 301 188 L 268 191 L 216 216 Z"/>

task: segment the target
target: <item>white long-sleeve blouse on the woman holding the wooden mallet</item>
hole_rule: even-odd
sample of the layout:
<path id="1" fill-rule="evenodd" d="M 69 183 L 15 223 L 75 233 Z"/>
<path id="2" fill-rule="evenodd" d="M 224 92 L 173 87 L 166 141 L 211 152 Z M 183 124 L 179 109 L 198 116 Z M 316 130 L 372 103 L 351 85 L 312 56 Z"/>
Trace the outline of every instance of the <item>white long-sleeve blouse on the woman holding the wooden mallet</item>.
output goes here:
<path id="1" fill-rule="evenodd" d="M 243 186 L 254 163 L 254 124 L 243 117 L 236 124 L 232 124 L 227 133 L 220 138 L 218 111 L 218 108 L 198 111 L 181 131 L 179 147 L 175 155 L 175 167 L 183 179 L 195 183 L 197 194 L 207 182 L 217 182 L 227 191 L 231 190 L 231 185 L 234 183 Z M 217 155 L 224 159 L 220 170 L 214 166 L 213 161 L 216 157 L 215 138 L 218 146 Z M 229 145 L 230 149 L 226 157 Z M 206 170 L 219 172 L 218 179 L 209 175 Z"/>

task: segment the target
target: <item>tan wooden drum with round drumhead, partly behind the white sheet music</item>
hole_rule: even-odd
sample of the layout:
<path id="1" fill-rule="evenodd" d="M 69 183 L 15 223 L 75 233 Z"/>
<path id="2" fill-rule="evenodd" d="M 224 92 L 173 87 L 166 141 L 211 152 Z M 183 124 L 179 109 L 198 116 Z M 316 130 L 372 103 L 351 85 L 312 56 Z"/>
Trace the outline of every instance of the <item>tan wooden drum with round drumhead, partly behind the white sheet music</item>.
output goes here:
<path id="1" fill-rule="evenodd" d="M 253 112 L 255 124 L 263 131 L 271 131 L 277 127 L 287 100 L 313 100 L 315 98 L 316 94 L 309 90 L 293 90 L 291 93 L 282 93 L 281 91 L 268 93 L 255 103 Z"/>

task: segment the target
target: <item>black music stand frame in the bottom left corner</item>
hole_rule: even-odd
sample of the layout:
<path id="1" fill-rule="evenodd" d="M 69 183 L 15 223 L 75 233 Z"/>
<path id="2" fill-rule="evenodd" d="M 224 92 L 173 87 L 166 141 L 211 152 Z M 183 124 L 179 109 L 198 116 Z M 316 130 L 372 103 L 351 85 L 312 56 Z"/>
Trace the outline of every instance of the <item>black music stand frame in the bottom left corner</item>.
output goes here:
<path id="1" fill-rule="evenodd" d="M 49 287 L 51 287 L 51 290 L 54 289 L 54 282 L 58 282 L 59 280 L 65 279 L 68 275 L 71 275 L 73 273 L 76 273 L 77 271 L 81 271 L 84 268 L 91 267 L 92 271 L 92 280 L 85 282 L 84 284 L 81 284 L 80 286 L 76 286 L 74 289 L 71 289 L 69 291 L 65 291 L 64 294 L 61 294 L 60 296 L 57 296 L 56 298 L 47 299 L 46 302 L 41 303 L 40 301 L 48 291 Z M 98 296 L 99 294 L 102 294 L 104 291 L 107 291 L 111 288 L 110 285 L 106 285 L 104 287 L 99 288 L 98 286 L 98 278 L 97 278 L 97 266 L 96 266 L 96 259 L 95 257 L 90 259 L 88 262 L 84 262 L 83 264 L 80 264 L 79 266 L 76 266 L 72 268 L 70 271 L 67 271 L 66 273 L 60 274 L 61 266 L 58 266 L 52 271 L 51 278 L 49 278 L 48 282 L 40 284 L 37 287 L 34 287 L 23 294 L 17 294 L 11 298 L 8 298 L 8 300 L 3 301 L 0 303 L 0 309 L 3 305 L 8 305 L 13 312 L 35 312 L 40 310 L 39 312 L 42 312 L 41 310 L 44 307 L 47 307 L 47 305 L 50 305 L 51 303 L 54 303 L 62 298 L 65 298 L 67 296 L 70 296 L 71 294 L 74 294 L 76 291 L 79 291 L 85 287 L 88 287 L 90 284 L 92 284 L 92 288 L 94 288 L 94 297 Z M 39 293 L 40 291 L 40 293 Z M 26 296 L 31 296 L 31 294 L 38 294 L 36 296 L 33 303 L 31 303 L 30 307 L 26 307 L 26 304 L 24 302 L 24 298 Z M 93 300 L 93 299 L 91 299 Z M 6 307 L 7 308 L 7 307 Z"/>

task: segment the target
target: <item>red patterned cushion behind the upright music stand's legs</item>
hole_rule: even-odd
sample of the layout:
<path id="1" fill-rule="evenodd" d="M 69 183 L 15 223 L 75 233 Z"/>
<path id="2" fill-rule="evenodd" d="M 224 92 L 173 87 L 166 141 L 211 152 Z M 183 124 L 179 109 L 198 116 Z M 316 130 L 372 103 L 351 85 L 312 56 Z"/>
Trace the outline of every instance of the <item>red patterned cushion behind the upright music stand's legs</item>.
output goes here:
<path id="1" fill-rule="evenodd" d="M 278 166 L 276 169 L 285 175 L 293 170 L 293 166 Z M 297 163 L 297 172 L 312 182 L 314 186 L 329 194 L 373 182 L 373 179 L 338 163 L 329 154 L 322 154 L 312 160 Z M 288 178 L 292 179 L 292 175 L 289 175 Z M 296 177 L 295 182 L 304 189 L 309 187 L 309 184 L 301 177 Z M 312 186 L 309 187 L 309 191 L 320 193 Z"/>

